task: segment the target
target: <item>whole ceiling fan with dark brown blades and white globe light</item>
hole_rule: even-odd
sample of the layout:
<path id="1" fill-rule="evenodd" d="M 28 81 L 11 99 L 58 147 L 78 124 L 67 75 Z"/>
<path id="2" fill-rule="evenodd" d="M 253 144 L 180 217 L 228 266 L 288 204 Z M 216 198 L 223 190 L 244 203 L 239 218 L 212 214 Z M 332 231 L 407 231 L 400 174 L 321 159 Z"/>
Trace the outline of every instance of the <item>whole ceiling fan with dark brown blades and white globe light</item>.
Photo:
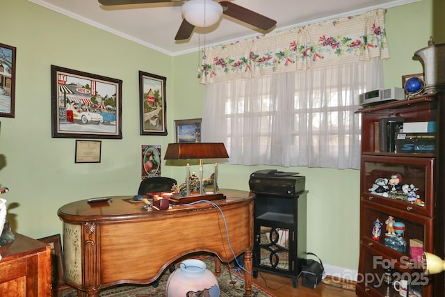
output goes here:
<path id="1" fill-rule="evenodd" d="M 206 27 L 216 24 L 221 15 L 228 15 L 241 22 L 245 22 L 264 31 L 272 29 L 277 21 L 255 13 L 254 11 L 238 6 L 230 1 L 213 0 L 98 0 L 104 6 L 141 4 L 141 3 L 163 3 L 184 2 L 181 10 L 184 15 L 181 26 L 175 36 L 175 40 L 186 40 L 190 38 L 195 26 Z"/>

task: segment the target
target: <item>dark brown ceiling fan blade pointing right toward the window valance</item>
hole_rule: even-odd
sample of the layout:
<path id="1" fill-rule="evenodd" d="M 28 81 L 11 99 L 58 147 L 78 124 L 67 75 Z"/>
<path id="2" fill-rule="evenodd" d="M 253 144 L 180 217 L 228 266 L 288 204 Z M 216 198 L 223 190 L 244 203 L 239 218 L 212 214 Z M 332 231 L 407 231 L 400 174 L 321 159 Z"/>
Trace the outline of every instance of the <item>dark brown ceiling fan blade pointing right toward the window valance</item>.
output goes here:
<path id="1" fill-rule="evenodd" d="M 244 8 L 243 6 L 236 5 L 232 2 L 220 1 L 220 4 L 223 6 L 223 13 L 225 15 L 233 17 L 234 19 L 239 19 L 241 22 L 251 24 L 252 26 L 256 26 L 264 31 L 271 29 L 273 26 L 275 26 L 275 24 L 277 24 L 275 19 L 270 19 L 264 15 L 255 13 L 248 8 Z"/>

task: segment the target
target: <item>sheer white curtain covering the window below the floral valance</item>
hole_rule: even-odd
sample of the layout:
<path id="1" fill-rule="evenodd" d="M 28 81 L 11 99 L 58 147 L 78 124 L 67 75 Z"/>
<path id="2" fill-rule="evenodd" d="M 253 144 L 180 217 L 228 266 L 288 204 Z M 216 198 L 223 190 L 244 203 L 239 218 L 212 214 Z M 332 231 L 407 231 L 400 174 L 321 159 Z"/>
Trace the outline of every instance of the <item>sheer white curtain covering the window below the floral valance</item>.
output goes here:
<path id="1" fill-rule="evenodd" d="M 359 94 L 382 86 L 382 60 L 206 86 L 202 141 L 229 163 L 359 168 Z"/>

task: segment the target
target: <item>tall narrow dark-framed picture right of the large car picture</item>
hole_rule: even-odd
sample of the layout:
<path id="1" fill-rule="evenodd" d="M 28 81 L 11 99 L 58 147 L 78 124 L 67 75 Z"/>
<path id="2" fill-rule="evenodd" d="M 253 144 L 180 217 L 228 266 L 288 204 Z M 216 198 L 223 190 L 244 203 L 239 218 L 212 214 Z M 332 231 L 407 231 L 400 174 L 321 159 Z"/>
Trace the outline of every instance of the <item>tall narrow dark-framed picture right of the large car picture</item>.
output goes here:
<path id="1" fill-rule="evenodd" d="M 167 135 L 166 81 L 165 77 L 139 72 L 140 135 Z"/>

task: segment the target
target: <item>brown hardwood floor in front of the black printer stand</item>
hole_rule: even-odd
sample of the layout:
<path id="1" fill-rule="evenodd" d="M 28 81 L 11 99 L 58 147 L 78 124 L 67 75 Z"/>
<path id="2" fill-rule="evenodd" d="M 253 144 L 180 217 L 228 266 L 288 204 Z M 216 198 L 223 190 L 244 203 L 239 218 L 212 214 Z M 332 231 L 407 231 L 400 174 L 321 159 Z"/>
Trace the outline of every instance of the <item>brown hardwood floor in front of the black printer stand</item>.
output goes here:
<path id="1" fill-rule="evenodd" d="M 327 277 L 329 278 L 329 277 Z M 292 285 L 291 278 L 275 275 L 271 273 L 265 273 L 259 271 L 258 278 L 252 278 L 252 282 L 258 284 L 260 287 L 270 291 L 277 297 L 355 297 L 355 290 L 341 289 L 340 287 L 334 287 L 333 285 L 321 283 L 318 284 L 316 289 L 303 287 L 301 285 L 301 279 L 298 280 L 298 286 L 296 288 Z M 343 284 L 350 285 L 350 284 Z M 353 285 L 353 284 L 352 284 Z"/>

